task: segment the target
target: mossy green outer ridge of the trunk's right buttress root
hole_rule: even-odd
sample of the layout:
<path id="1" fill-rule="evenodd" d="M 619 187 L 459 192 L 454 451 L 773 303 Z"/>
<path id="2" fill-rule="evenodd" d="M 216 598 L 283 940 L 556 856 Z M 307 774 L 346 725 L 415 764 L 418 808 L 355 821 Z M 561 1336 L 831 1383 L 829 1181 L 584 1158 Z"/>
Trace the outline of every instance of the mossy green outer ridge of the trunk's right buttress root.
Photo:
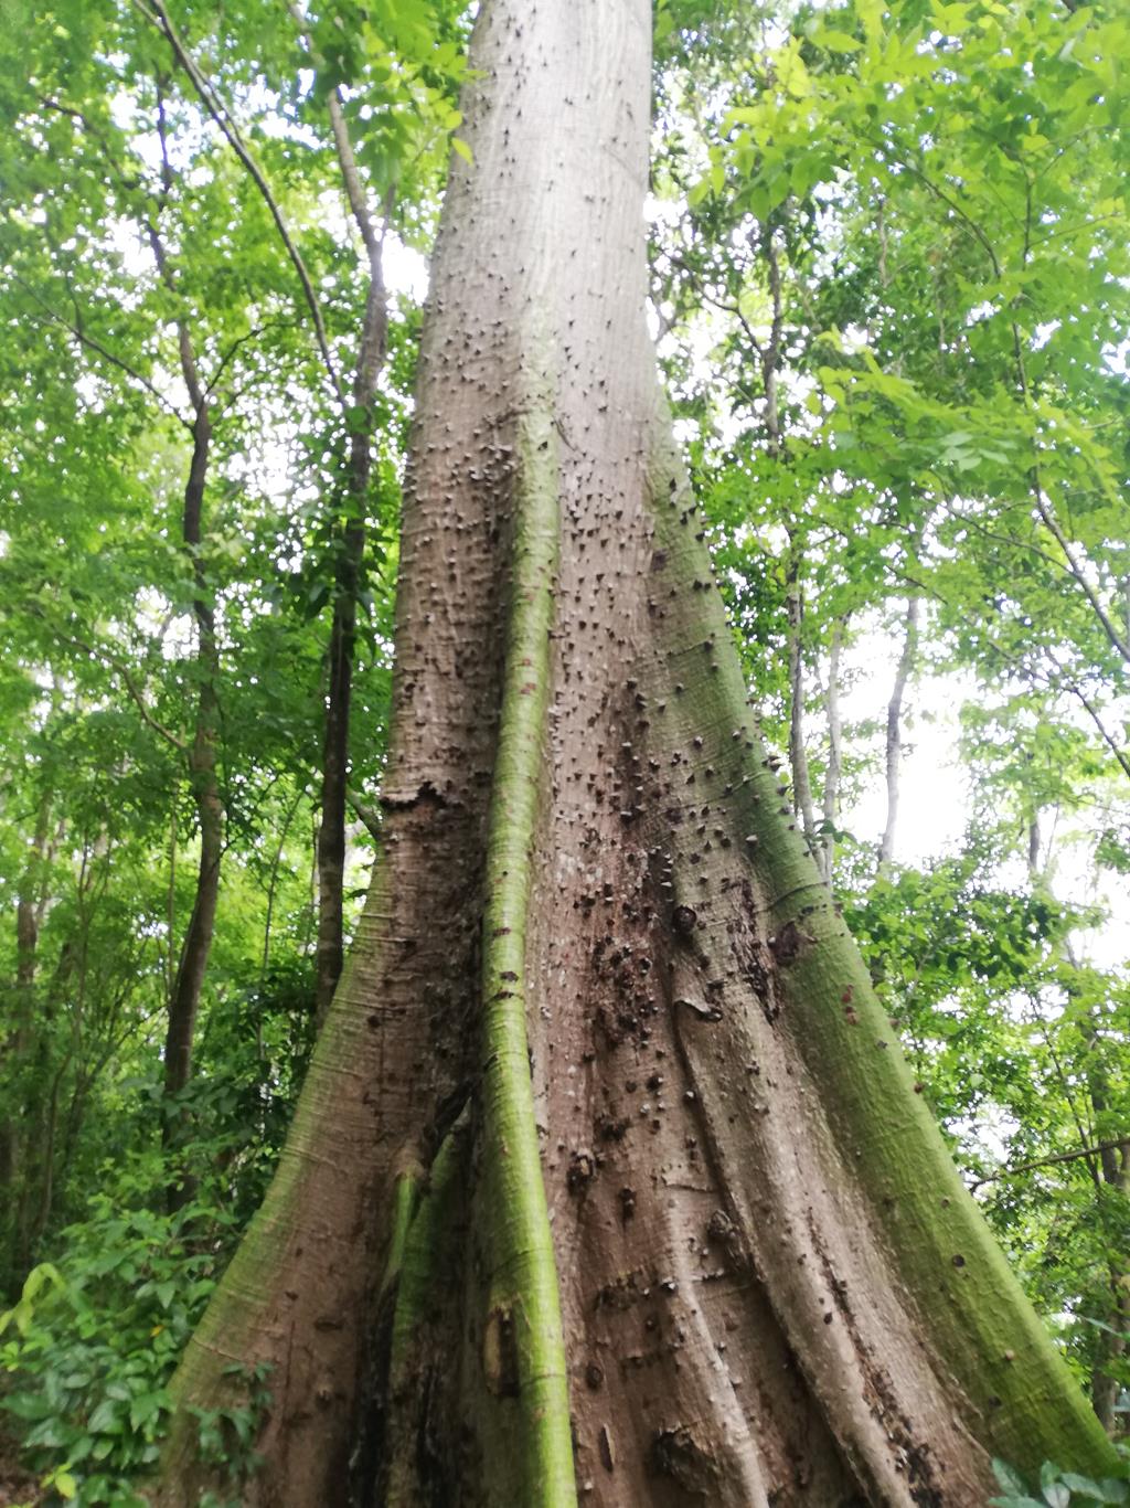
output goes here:
<path id="1" fill-rule="evenodd" d="M 1101 1473 L 1115 1463 L 1113 1446 L 961 1184 L 859 950 L 791 813 L 782 810 L 722 599 L 695 590 L 710 582 L 710 559 L 663 419 L 658 428 L 654 543 L 664 552 L 664 581 L 693 602 L 686 624 L 672 612 L 664 630 L 667 673 L 684 682 L 670 716 L 681 733 L 702 739 L 701 763 L 729 792 L 732 831 L 768 897 L 768 930 L 788 941 L 786 967 L 777 970 L 788 1031 L 821 1086 L 829 1125 L 872 1205 L 874 1228 L 922 1318 L 936 1363 L 964 1396 L 972 1434 L 1025 1470 L 1055 1460 Z M 704 641 L 711 647 L 705 674 Z"/>

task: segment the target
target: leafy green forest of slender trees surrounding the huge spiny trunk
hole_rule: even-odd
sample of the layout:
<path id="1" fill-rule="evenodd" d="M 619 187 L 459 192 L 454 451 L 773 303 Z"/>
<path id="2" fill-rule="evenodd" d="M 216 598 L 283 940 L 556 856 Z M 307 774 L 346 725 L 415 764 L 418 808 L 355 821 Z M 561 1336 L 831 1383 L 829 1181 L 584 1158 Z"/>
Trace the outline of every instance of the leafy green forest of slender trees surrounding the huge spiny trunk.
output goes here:
<path id="1" fill-rule="evenodd" d="M 485 161 L 476 11 L 0 0 L 0 1502 L 146 1500 L 369 872 L 449 801 L 390 783 L 389 730 L 413 467 L 440 433 L 429 258 L 449 175 Z M 713 569 L 693 587 L 717 582 L 913 1092 L 1119 1440 L 1130 14 L 654 20 L 646 317 Z M 478 357 L 467 336 L 457 365 Z M 567 428 L 536 443 L 586 443 Z M 457 621 L 472 534 L 437 556 L 428 623 Z M 597 1160 L 571 1155 L 577 1196 Z M 277 1380 L 238 1381 L 196 1410 L 197 1449 L 250 1481 Z M 1029 1490 L 1127 1500 L 1071 1464 Z"/>

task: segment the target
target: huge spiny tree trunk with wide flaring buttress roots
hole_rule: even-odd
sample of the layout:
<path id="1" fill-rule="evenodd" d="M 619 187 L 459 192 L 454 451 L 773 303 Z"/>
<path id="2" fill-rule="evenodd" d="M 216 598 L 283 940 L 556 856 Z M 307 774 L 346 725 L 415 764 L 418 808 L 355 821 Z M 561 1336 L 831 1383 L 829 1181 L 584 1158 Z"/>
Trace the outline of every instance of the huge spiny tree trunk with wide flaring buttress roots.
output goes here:
<path id="1" fill-rule="evenodd" d="M 645 326 L 649 26 L 481 9 L 383 860 L 155 1502 L 232 1360 L 247 1503 L 981 1508 L 990 1454 L 1107 1460 L 752 731 Z"/>

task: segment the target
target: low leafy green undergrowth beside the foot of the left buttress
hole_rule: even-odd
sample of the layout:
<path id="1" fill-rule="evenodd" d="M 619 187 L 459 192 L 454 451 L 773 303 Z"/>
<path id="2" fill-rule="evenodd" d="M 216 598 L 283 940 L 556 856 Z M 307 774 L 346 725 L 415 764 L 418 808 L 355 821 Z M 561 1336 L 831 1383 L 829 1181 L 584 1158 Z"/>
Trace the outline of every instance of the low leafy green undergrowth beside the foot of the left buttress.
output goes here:
<path id="1" fill-rule="evenodd" d="M 44 1502 L 143 1505 L 136 1484 L 160 1454 L 169 1378 L 243 1223 L 217 1184 L 160 1209 L 164 1167 L 154 1154 L 107 1175 L 0 1313 L 0 1408 Z M 202 1457 L 228 1475 L 253 1469 L 265 1402 L 264 1375 L 240 1381 L 244 1402 L 197 1418 Z"/>

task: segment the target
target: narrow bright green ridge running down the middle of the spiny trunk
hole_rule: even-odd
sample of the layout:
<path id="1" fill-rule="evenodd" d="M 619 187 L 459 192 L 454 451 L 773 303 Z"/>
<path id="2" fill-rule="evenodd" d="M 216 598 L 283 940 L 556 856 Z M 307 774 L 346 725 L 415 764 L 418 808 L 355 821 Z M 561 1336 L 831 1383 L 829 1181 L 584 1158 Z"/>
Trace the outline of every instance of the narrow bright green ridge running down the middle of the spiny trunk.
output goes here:
<path id="1" fill-rule="evenodd" d="M 487 837 L 482 932 L 482 1366 L 517 1395 L 514 1502 L 576 1503 L 565 1344 L 526 1034 L 526 923 L 544 768 L 559 505 L 553 407 L 518 419 L 512 588 Z M 497 1463 L 505 1470 L 505 1463 Z M 496 1484 L 497 1485 L 497 1484 Z"/>

